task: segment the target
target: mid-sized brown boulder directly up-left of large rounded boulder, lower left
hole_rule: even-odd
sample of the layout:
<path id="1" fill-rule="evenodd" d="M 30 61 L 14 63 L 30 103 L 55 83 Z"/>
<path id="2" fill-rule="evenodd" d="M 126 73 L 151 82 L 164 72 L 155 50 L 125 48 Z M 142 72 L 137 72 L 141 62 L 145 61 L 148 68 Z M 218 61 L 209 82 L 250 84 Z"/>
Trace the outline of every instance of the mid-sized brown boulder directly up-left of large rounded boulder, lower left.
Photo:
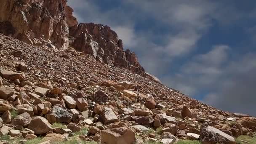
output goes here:
<path id="1" fill-rule="evenodd" d="M 27 127 L 29 123 L 31 122 L 31 117 L 29 113 L 24 112 L 21 115 L 18 115 L 12 120 L 13 125 L 15 126 L 22 126 L 22 127 Z"/>

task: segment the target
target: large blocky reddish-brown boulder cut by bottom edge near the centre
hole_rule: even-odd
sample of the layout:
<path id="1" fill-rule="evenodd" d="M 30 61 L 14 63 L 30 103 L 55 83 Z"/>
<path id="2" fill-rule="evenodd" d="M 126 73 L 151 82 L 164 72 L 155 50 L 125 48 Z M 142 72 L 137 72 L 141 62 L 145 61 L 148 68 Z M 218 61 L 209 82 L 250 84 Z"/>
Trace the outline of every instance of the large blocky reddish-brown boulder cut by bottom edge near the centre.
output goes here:
<path id="1" fill-rule="evenodd" d="M 112 128 L 101 133 L 101 144 L 133 144 L 135 132 L 128 127 Z"/>

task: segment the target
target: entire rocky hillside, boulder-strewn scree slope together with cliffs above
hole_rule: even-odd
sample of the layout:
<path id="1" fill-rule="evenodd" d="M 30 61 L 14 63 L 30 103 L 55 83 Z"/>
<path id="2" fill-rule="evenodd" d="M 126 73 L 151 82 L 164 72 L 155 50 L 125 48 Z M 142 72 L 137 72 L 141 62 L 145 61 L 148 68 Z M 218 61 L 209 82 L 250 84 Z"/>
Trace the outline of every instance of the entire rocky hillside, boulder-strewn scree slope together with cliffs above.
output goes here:
<path id="1" fill-rule="evenodd" d="M 256 135 L 255 117 L 161 84 L 114 31 L 78 24 L 66 3 L 0 1 L 0 144 L 236 144 Z"/>

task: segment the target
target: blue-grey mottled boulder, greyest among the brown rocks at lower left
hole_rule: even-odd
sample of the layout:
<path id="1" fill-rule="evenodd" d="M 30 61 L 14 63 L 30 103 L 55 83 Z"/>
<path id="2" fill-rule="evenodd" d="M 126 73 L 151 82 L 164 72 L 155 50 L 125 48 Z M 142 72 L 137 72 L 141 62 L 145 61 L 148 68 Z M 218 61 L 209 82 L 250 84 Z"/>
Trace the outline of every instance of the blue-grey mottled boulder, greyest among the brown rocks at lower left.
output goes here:
<path id="1" fill-rule="evenodd" d="M 46 118 L 50 123 L 70 123 L 72 116 L 67 110 L 54 106 L 51 113 L 46 115 Z"/>

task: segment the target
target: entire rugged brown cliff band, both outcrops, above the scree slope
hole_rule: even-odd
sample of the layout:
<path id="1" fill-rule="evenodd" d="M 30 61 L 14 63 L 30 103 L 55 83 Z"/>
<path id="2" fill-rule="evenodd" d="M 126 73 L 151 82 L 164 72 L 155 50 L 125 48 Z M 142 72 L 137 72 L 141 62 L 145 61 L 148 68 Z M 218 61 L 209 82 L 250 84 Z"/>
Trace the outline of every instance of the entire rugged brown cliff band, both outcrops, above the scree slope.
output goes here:
<path id="1" fill-rule="evenodd" d="M 1 0 L 0 33 L 33 45 L 64 51 L 70 46 L 96 60 L 144 72 L 135 53 L 123 49 L 122 40 L 110 27 L 78 24 L 67 0 Z"/>

